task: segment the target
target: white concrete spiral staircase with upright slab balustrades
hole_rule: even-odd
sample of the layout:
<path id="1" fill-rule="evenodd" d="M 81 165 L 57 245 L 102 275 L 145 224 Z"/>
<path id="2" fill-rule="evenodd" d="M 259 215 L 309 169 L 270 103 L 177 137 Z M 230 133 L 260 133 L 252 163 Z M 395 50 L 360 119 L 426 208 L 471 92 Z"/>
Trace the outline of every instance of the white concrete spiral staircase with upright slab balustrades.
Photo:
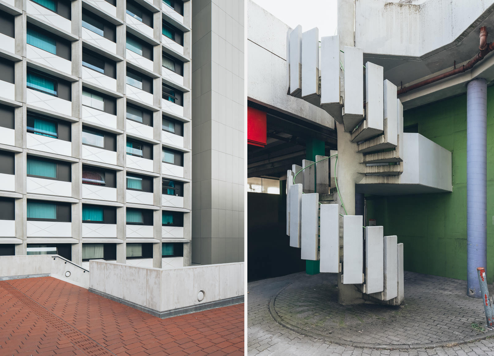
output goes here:
<path id="1" fill-rule="evenodd" d="M 340 51 L 338 36 L 319 42 L 317 28 L 289 31 L 287 52 L 288 95 L 321 107 L 343 124 L 361 158 L 357 173 L 375 178 L 402 174 L 403 106 L 396 85 L 383 80 L 383 68 L 371 62 L 364 67 L 361 48 Z M 290 246 L 301 248 L 302 259 L 319 260 L 320 272 L 341 274 L 338 282 L 354 284 L 364 299 L 399 305 L 404 301 L 403 244 L 396 236 L 383 236 L 382 226 L 364 228 L 363 216 L 341 209 L 336 172 L 329 182 L 336 151 L 334 156 L 316 156 L 315 162 L 303 160 L 288 170 Z"/>

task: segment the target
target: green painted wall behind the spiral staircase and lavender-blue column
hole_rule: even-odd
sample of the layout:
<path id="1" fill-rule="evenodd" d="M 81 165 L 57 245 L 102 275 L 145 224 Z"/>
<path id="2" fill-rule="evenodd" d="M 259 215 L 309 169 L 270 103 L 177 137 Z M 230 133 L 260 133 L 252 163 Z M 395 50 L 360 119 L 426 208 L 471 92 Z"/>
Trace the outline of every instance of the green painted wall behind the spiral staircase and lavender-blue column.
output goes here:
<path id="1" fill-rule="evenodd" d="M 494 275 L 494 87 L 488 88 L 487 274 Z M 453 193 L 368 197 L 368 219 L 404 243 L 404 269 L 466 279 L 466 94 L 405 111 L 404 126 L 452 152 Z"/>

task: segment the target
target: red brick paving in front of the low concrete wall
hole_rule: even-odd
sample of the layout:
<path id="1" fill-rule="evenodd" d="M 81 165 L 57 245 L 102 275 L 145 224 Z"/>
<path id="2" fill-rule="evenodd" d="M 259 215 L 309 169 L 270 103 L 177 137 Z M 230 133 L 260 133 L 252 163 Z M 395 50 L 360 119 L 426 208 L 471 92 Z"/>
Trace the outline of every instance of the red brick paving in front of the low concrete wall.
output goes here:
<path id="1" fill-rule="evenodd" d="M 244 355 L 244 304 L 160 319 L 52 277 L 0 281 L 0 354 Z"/>

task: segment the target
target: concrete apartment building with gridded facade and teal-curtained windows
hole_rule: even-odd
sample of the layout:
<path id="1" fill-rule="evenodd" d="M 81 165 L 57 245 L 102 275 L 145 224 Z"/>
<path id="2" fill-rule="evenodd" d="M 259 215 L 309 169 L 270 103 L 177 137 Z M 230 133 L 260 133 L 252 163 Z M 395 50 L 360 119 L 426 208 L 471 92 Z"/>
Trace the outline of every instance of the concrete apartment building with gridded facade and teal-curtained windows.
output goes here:
<path id="1" fill-rule="evenodd" d="M 211 172 L 211 160 L 193 164 L 196 3 L 0 3 L 0 255 L 192 264 L 191 211 L 207 189 L 194 198 L 194 171 Z M 197 262 L 242 260 L 237 249 Z"/>

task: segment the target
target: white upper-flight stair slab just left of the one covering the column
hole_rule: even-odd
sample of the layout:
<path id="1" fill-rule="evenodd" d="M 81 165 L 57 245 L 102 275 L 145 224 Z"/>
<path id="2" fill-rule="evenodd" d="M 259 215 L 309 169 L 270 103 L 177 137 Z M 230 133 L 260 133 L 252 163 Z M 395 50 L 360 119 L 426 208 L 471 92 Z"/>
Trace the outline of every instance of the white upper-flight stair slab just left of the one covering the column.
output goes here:
<path id="1" fill-rule="evenodd" d="M 340 103 L 339 36 L 321 38 L 321 105 Z"/>

